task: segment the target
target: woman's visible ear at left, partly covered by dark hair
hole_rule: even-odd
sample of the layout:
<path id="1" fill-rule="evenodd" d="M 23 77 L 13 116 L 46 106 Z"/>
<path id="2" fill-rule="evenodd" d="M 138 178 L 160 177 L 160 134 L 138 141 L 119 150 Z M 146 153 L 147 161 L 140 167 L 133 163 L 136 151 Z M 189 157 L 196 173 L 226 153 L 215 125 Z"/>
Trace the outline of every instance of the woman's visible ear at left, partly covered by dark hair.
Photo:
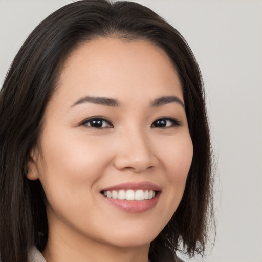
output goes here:
<path id="1" fill-rule="evenodd" d="M 36 180 L 39 178 L 38 165 L 39 165 L 39 151 L 37 149 L 37 146 L 34 146 L 30 150 L 30 154 L 27 157 L 26 176 L 29 180 Z"/>

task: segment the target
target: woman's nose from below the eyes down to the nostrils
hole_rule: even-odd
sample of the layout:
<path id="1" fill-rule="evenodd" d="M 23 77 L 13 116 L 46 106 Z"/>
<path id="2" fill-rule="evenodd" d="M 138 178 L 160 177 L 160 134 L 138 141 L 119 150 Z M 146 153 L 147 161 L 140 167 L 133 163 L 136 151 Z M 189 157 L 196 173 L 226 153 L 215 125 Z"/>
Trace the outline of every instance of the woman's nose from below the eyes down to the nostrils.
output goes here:
<path id="1" fill-rule="evenodd" d="M 128 132 L 118 137 L 118 153 L 114 161 L 117 169 L 136 173 L 157 167 L 159 162 L 148 136 L 143 132 Z"/>

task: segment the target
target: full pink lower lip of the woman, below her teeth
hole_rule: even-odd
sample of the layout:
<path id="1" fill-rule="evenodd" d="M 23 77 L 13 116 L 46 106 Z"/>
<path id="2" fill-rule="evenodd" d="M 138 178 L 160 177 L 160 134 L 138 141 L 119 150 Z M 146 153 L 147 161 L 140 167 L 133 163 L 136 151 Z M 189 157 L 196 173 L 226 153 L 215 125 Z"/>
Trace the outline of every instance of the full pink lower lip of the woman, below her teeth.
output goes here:
<path id="1" fill-rule="evenodd" d="M 129 213 L 142 213 L 149 209 L 154 208 L 159 200 L 160 192 L 152 199 L 147 200 L 120 200 L 104 197 L 107 203 L 110 203 L 116 208 L 124 210 Z"/>

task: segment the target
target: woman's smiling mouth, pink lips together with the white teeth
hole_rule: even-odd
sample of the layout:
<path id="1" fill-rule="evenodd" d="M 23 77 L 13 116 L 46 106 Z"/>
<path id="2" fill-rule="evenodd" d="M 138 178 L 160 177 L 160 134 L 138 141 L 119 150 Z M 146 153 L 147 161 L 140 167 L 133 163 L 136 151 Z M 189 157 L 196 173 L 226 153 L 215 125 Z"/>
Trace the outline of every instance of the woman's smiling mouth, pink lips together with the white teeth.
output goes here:
<path id="1" fill-rule="evenodd" d="M 161 189 L 150 182 L 123 183 L 100 191 L 103 199 L 112 206 L 130 213 L 141 213 L 154 208 Z"/>

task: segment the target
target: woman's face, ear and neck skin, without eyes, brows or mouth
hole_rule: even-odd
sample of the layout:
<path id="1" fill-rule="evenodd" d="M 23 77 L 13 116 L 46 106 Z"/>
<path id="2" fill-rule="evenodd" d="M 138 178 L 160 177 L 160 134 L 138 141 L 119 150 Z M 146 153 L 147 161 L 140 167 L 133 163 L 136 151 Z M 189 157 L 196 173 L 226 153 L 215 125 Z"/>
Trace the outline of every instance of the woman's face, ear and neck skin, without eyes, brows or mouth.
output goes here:
<path id="1" fill-rule="evenodd" d="M 120 105 L 74 105 L 85 96 Z M 147 261 L 150 242 L 181 201 L 193 154 L 183 105 L 150 106 L 163 96 L 183 102 L 168 56 L 147 41 L 99 38 L 65 61 L 28 161 L 28 178 L 40 179 L 47 196 L 49 239 L 42 254 L 48 262 Z M 83 123 L 93 116 L 110 124 Z M 181 126 L 152 126 L 164 117 Z M 116 208 L 101 194 L 143 181 L 161 188 L 157 205 L 145 212 Z"/>

